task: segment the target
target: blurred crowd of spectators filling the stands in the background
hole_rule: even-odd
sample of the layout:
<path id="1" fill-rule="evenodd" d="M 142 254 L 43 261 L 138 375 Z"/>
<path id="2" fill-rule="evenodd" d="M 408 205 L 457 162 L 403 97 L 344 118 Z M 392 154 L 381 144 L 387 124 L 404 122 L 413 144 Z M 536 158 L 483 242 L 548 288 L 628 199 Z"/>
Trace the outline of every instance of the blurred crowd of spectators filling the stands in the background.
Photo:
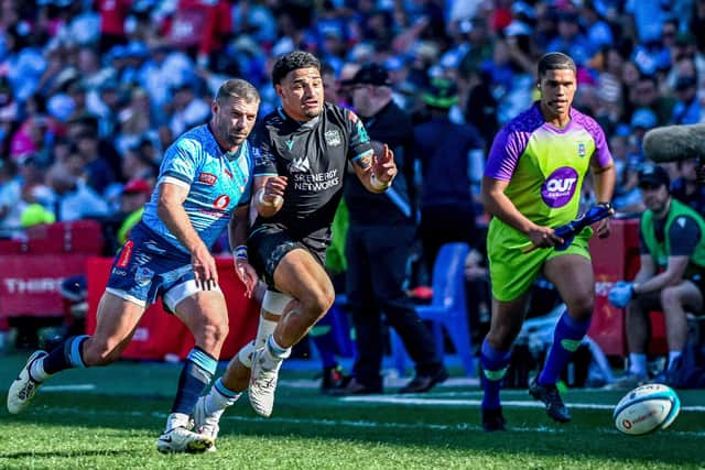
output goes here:
<path id="1" fill-rule="evenodd" d="M 570 54 L 574 106 L 608 136 L 621 212 L 643 210 L 646 131 L 705 122 L 703 0 L 0 0 L 0 237 L 132 212 L 122 193 L 149 193 L 163 151 L 207 122 L 221 81 L 252 83 L 265 114 L 278 105 L 271 66 L 295 48 L 337 84 L 382 65 L 416 125 L 432 118 L 424 91 L 451 81 L 447 116 L 476 129 L 484 156 L 538 97 L 541 54 Z M 481 156 L 469 168 L 476 196 Z M 668 170 L 674 196 L 703 214 L 692 163 Z"/>

